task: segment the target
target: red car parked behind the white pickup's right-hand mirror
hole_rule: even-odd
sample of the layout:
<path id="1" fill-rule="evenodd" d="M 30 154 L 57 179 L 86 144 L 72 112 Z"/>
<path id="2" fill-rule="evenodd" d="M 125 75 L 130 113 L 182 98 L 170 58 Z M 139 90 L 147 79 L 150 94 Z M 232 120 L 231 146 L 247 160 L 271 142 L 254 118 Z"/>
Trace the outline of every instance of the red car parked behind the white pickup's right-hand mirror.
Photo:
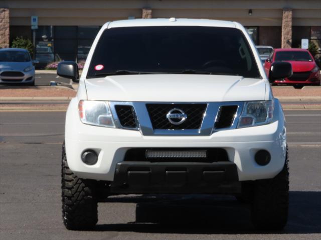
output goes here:
<path id="1" fill-rule="evenodd" d="M 287 61 L 292 64 L 293 74 L 290 77 L 277 79 L 274 84 L 319 85 L 320 69 L 311 53 L 301 48 L 275 48 L 264 62 L 264 70 L 268 76 L 274 61 Z"/>

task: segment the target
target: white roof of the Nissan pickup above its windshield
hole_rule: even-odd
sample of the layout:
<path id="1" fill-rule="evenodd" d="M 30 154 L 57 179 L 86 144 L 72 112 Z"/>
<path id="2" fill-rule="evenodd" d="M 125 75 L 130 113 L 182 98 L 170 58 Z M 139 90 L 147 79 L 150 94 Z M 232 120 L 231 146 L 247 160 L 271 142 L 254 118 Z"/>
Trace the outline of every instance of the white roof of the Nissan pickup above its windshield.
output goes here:
<path id="1" fill-rule="evenodd" d="M 113 27 L 130 27 L 130 26 L 218 26 L 218 27 L 233 27 L 235 22 L 210 20 L 210 19 L 191 19 L 191 18 L 152 18 L 152 19 L 130 19 L 117 20 L 107 22 L 103 28 Z"/>

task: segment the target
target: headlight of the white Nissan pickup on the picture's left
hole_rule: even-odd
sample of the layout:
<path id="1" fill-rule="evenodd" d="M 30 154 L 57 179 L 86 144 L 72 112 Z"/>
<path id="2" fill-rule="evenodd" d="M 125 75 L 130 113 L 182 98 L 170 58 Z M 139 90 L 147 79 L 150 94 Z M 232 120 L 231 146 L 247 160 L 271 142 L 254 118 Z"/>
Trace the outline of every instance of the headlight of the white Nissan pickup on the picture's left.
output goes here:
<path id="1" fill-rule="evenodd" d="M 85 124 L 115 127 L 107 101 L 80 100 L 78 112 L 80 120 Z"/>

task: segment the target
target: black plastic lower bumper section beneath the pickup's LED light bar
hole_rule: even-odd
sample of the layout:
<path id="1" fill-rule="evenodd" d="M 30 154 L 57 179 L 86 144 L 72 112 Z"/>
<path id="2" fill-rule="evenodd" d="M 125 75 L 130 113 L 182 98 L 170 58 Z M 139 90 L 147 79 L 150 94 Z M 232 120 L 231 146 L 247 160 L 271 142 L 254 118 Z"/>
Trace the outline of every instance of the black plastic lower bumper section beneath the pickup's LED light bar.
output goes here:
<path id="1" fill-rule="evenodd" d="M 233 162 L 117 163 L 114 193 L 237 193 L 241 191 Z"/>

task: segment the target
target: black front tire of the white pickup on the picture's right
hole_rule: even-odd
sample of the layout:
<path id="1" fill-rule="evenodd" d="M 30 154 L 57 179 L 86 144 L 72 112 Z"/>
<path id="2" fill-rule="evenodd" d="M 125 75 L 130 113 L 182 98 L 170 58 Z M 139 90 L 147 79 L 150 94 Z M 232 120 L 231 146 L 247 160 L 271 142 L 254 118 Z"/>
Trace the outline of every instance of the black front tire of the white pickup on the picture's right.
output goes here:
<path id="1" fill-rule="evenodd" d="M 252 223 L 259 230 L 282 230 L 289 205 L 288 154 L 281 172 L 272 179 L 256 180 L 252 200 Z"/>

